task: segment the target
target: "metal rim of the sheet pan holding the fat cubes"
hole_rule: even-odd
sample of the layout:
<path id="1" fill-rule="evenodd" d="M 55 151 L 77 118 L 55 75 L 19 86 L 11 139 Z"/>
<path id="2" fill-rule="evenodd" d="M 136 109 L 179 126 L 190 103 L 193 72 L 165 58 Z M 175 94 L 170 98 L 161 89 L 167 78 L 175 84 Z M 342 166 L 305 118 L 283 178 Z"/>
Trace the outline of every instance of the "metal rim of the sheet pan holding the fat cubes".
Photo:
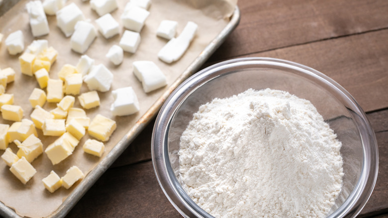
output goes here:
<path id="1" fill-rule="evenodd" d="M 0 0 L 0 16 L 18 0 Z M 64 217 L 82 196 L 93 186 L 97 179 L 105 172 L 106 169 L 117 159 L 117 157 L 130 145 L 133 139 L 144 129 L 162 107 L 164 101 L 184 80 L 194 74 L 210 55 L 222 44 L 226 37 L 233 31 L 240 21 L 240 11 L 236 6 L 229 23 L 219 34 L 205 47 L 198 57 L 182 72 L 179 78 L 157 99 L 154 105 L 148 109 L 134 126 L 121 138 L 121 140 L 112 148 L 112 150 L 103 158 L 98 165 L 85 177 L 84 180 L 71 192 L 61 206 L 50 216 L 55 218 Z M 0 202 L 0 215 L 9 218 L 19 218 L 12 209 Z"/>

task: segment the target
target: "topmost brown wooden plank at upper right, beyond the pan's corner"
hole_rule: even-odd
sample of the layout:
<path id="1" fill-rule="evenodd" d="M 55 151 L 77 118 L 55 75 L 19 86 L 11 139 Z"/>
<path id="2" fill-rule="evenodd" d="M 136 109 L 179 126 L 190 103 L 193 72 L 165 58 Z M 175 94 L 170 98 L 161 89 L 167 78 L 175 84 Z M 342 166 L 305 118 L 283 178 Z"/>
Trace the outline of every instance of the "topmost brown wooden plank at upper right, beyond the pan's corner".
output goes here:
<path id="1" fill-rule="evenodd" d="M 386 0 L 239 0 L 241 21 L 210 60 L 387 28 Z"/>

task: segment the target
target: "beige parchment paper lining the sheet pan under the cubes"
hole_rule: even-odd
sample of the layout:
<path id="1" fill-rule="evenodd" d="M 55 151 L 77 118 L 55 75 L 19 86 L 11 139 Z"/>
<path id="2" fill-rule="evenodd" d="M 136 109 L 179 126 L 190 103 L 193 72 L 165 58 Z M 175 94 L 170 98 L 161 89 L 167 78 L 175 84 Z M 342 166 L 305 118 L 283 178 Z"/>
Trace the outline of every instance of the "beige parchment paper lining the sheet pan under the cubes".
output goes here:
<path id="1" fill-rule="evenodd" d="M 66 5 L 75 2 L 81 10 L 83 10 L 85 18 L 90 20 L 96 27 L 94 22 L 98 18 L 97 13 L 90 8 L 89 1 L 68 0 Z M 60 177 L 64 176 L 66 170 L 71 166 L 78 166 L 87 175 L 98 162 L 106 156 L 115 144 L 125 135 L 125 133 L 133 126 L 133 124 L 149 109 L 158 97 L 165 92 L 168 87 L 179 77 L 179 75 L 194 61 L 200 52 L 207 46 L 210 41 L 226 26 L 228 18 L 233 13 L 236 0 L 153 0 L 149 9 L 150 16 L 145 22 L 140 35 L 140 46 L 135 54 L 124 52 L 124 61 L 119 66 L 114 66 L 105 58 L 105 54 L 113 44 L 118 44 L 124 28 L 121 24 L 120 15 L 124 5 L 127 2 L 117 0 L 119 8 L 113 11 L 112 16 L 120 23 L 120 34 L 106 40 L 100 33 L 97 34 L 96 40 L 85 54 L 95 59 L 96 64 L 104 64 L 113 73 L 113 83 L 110 91 L 101 93 L 99 98 L 101 105 L 95 109 L 89 109 L 87 115 L 93 119 L 97 113 L 107 116 L 117 123 L 117 129 L 108 142 L 105 143 L 105 152 L 101 158 L 95 157 L 83 152 L 82 145 L 89 138 L 86 134 L 76 147 L 73 155 L 57 165 L 52 165 L 46 154 L 43 153 L 32 162 L 32 165 L 37 170 L 34 177 L 23 185 L 10 171 L 9 167 L 0 160 L 0 201 L 6 206 L 13 208 L 20 216 L 26 217 L 46 217 L 52 214 L 63 202 L 64 199 L 72 192 L 76 183 L 72 188 L 66 190 L 61 187 L 55 193 L 49 193 L 43 186 L 42 179 L 46 177 L 51 170 L 54 170 Z M 4 39 L 7 35 L 16 30 L 22 30 L 24 34 L 25 48 L 34 39 L 47 39 L 49 46 L 53 46 L 58 52 L 57 61 L 53 64 L 50 70 L 50 78 L 57 79 L 57 73 L 64 64 L 76 65 L 81 54 L 75 53 L 70 48 L 70 37 L 66 38 L 62 31 L 56 26 L 56 17 L 48 16 L 50 27 L 49 35 L 34 38 L 31 34 L 28 23 L 28 14 L 25 10 L 26 0 L 21 0 L 8 12 L 0 17 L 0 32 L 4 34 Z M 171 19 L 178 21 L 177 35 L 183 30 L 188 21 L 194 21 L 198 24 L 196 37 L 191 43 L 188 51 L 177 62 L 166 64 L 160 61 L 157 57 L 158 51 L 167 43 L 167 40 L 156 36 L 156 29 L 163 19 Z M 6 93 L 14 94 L 14 105 L 19 105 L 24 109 L 24 118 L 30 119 L 32 107 L 28 102 L 28 97 L 33 88 L 39 88 L 36 79 L 20 73 L 18 55 L 11 56 L 8 54 L 4 43 L 0 45 L 0 66 L 1 69 L 11 67 L 16 71 L 15 81 L 8 84 Z M 135 78 L 132 73 L 132 62 L 136 60 L 150 60 L 155 62 L 167 77 L 168 85 L 159 90 L 145 94 L 141 83 Z M 129 116 L 112 116 L 109 107 L 113 102 L 111 91 L 121 87 L 131 86 L 140 102 L 140 112 Z M 86 84 L 83 85 L 81 93 L 87 92 Z M 44 109 L 54 109 L 56 104 L 46 103 Z M 81 108 L 78 99 L 74 107 Z M 1 123 L 11 125 L 12 121 L 2 120 Z M 58 137 L 43 136 L 42 131 L 37 129 L 39 138 L 42 139 L 43 149 L 52 143 Z M 15 153 L 17 147 L 14 143 L 10 143 L 9 147 Z M 3 150 L 0 150 L 2 155 Z M 119 187 L 117 187 L 119 188 Z"/>

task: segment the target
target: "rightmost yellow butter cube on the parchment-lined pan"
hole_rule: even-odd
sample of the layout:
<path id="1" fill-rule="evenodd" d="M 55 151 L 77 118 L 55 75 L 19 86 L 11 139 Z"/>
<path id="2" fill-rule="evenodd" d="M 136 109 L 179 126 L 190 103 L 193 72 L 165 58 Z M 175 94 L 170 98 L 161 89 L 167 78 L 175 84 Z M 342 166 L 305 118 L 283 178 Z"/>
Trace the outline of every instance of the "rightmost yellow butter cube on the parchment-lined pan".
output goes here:
<path id="1" fill-rule="evenodd" d="M 114 120 L 97 114 L 90 123 L 88 132 L 91 136 L 101 141 L 107 141 L 115 129 L 116 122 Z"/>

